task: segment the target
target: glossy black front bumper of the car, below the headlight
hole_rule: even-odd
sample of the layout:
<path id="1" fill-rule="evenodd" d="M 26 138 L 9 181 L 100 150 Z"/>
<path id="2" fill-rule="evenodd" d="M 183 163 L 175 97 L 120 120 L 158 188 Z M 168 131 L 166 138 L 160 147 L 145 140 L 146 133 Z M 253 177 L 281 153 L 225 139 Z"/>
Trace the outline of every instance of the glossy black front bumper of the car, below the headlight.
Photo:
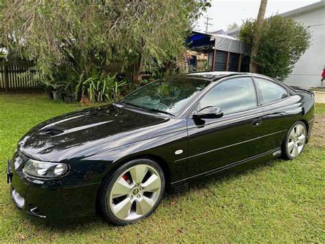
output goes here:
<path id="1" fill-rule="evenodd" d="M 17 166 L 15 160 L 7 162 L 7 177 L 10 197 L 20 212 L 46 221 L 95 217 L 99 184 L 64 188 L 60 179 L 27 177 L 23 164 Z"/>

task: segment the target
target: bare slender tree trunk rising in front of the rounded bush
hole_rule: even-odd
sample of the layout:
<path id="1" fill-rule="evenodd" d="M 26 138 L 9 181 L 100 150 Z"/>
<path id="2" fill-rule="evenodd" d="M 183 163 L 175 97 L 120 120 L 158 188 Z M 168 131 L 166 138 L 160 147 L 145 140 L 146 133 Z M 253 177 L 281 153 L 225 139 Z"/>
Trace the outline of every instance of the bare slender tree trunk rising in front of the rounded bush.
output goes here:
<path id="1" fill-rule="evenodd" d="M 254 62 L 254 57 L 258 53 L 258 45 L 261 40 L 261 31 L 266 10 L 267 0 L 261 0 L 260 9 L 256 19 L 254 38 L 252 43 L 252 52 L 250 53 L 250 72 L 258 73 L 258 65 Z"/>

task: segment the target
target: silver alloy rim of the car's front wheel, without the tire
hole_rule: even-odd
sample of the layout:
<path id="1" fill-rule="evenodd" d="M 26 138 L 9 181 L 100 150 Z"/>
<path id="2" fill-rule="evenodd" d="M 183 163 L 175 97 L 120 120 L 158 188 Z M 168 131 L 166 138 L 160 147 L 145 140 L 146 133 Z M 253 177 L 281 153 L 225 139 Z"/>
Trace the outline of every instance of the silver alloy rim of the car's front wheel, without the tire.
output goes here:
<path id="1" fill-rule="evenodd" d="M 158 201 L 161 185 L 160 176 L 152 166 L 137 164 L 125 170 L 107 196 L 112 214 L 123 221 L 143 217 Z"/>

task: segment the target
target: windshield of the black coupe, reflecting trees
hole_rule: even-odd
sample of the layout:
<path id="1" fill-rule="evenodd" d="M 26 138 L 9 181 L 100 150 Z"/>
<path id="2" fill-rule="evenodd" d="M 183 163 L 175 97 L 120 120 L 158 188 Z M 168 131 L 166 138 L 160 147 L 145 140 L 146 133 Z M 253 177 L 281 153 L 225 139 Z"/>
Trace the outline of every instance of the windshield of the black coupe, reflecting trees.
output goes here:
<path id="1" fill-rule="evenodd" d="M 193 78 L 162 78 L 130 93 L 121 102 L 175 114 L 209 83 Z"/>

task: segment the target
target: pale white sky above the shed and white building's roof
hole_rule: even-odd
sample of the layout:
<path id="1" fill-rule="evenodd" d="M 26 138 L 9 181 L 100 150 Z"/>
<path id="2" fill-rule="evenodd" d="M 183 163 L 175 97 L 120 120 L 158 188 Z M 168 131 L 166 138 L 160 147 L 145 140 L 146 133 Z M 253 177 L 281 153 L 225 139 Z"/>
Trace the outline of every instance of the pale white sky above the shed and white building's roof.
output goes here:
<path id="1" fill-rule="evenodd" d="M 317 1 L 319 0 L 268 0 L 265 17 L 276 14 L 277 12 L 279 14 L 287 12 Z M 212 21 L 209 20 L 209 23 L 213 25 L 208 27 L 208 31 L 227 30 L 228 25 L 234 22 L 241 25 L 242 20 L 256 19 L 260 3 L 261 0 L 212 0 L 211 8 L 204 13 L 204 16 L 208 14 L 208 17 L 213 19 Z M 206 22 L 206 19 L 201 18 L 195 30 L 205 31 L 206 27 L 204 22 Z"/>

